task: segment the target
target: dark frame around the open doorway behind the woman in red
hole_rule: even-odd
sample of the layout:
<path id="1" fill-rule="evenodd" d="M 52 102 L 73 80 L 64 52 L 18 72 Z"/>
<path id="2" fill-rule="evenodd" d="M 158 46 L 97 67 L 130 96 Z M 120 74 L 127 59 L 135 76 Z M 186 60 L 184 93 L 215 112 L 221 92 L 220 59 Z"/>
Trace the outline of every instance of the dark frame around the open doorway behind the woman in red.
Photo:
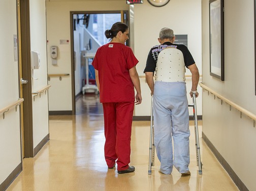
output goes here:
<path id="1" fill-rule="evenodd" d="M 71 44 L 71 82 L 72 82 L 72 114 L 76 114 L 76 95 L 75 95 L 75 57 L 74 57 L 74 20 L 73 15 L 78 14 L 109 14 L 120 13 L 121 22 L 130 25 L 129 11 L 71 11 L 70 12 L 70 44 Z M 127 46 L 130 45 L 130 39 L 127 41 Z"/>

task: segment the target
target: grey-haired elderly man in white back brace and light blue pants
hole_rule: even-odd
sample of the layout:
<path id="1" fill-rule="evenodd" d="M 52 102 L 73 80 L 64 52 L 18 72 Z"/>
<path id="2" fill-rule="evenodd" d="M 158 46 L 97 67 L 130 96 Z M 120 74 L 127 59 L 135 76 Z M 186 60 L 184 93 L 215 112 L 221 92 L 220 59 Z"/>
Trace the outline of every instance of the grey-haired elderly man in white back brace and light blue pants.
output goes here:
<path id="1" fill-rule="evenodd" d="M 161 162 L 159 172 L 171 174 L 174 166 L 182 176 L 187 176 L 190 175 L 190 132 L 185 67 L 192 73 L 190 96 L 198 97 L 199 72 L 187 47 L 174 41 L 173 30 L 162 28 L 158 38 L 161 45 L 149 51 L 144 73 L 153 95 L 154 144 Z"/>

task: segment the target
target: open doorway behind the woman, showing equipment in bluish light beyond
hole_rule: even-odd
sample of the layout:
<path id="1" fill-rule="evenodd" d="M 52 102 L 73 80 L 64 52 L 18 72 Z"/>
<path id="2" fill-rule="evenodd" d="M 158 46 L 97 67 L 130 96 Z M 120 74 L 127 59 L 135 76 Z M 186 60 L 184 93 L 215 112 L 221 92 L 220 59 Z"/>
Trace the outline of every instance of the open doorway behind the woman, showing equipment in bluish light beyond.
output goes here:
<path id="1" fill-rule="evenodd" d="M 94 99 L 99 103 L 91 62 L 98 48 L 109 42 L 105 30 L 118 21 L 129 25 L 127 14 L 127 11 L 71 12 L 72 114 L 82 114 L 84 109 L 76 107 L 81 100 L 90 102 Z M 129 44 L 127 41 L 126 45 Z"/>

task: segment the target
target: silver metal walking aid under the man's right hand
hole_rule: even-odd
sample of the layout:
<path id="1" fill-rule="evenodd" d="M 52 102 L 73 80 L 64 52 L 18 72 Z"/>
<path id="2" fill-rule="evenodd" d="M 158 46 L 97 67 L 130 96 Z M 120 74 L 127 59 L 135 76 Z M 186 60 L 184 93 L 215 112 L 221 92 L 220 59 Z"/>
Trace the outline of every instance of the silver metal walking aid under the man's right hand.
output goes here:
<path id="1" fill-rule="evenodd" d="M 196 94 L 192 94 L 192 97 L 193 97 L 193 104 L 188 104 L 188 107 L 193 107 L 194 125 L 195 125 L 195 136 L 196 136 L 197 166 L 199 168 L 198 173 L 202 174 L 202 166 L 203 166 L 203 164 L 201 162 L 201 155 L 200 155 Z"/>

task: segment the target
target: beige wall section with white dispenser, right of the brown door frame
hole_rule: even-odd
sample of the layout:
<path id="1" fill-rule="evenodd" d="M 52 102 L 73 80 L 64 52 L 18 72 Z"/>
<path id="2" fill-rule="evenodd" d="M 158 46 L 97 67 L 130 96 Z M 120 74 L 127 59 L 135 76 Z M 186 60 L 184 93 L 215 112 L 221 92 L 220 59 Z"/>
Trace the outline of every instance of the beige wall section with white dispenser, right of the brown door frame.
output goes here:
<path id="1" fill-rule="evenodd" d="M 40 67 L 34 69 L 31 79 L 32 91 L 39 91 L 47 86 L 47 52 L 46 52 L 46 15 L 45 0 L 30 1 L 30 46 L 31 51 L 40 55 Z M 50 88 L 51 89 L 51 88 Z M 33 145 L 34 148 L 49 134 L 48 94 L 33 100 Z"/>

